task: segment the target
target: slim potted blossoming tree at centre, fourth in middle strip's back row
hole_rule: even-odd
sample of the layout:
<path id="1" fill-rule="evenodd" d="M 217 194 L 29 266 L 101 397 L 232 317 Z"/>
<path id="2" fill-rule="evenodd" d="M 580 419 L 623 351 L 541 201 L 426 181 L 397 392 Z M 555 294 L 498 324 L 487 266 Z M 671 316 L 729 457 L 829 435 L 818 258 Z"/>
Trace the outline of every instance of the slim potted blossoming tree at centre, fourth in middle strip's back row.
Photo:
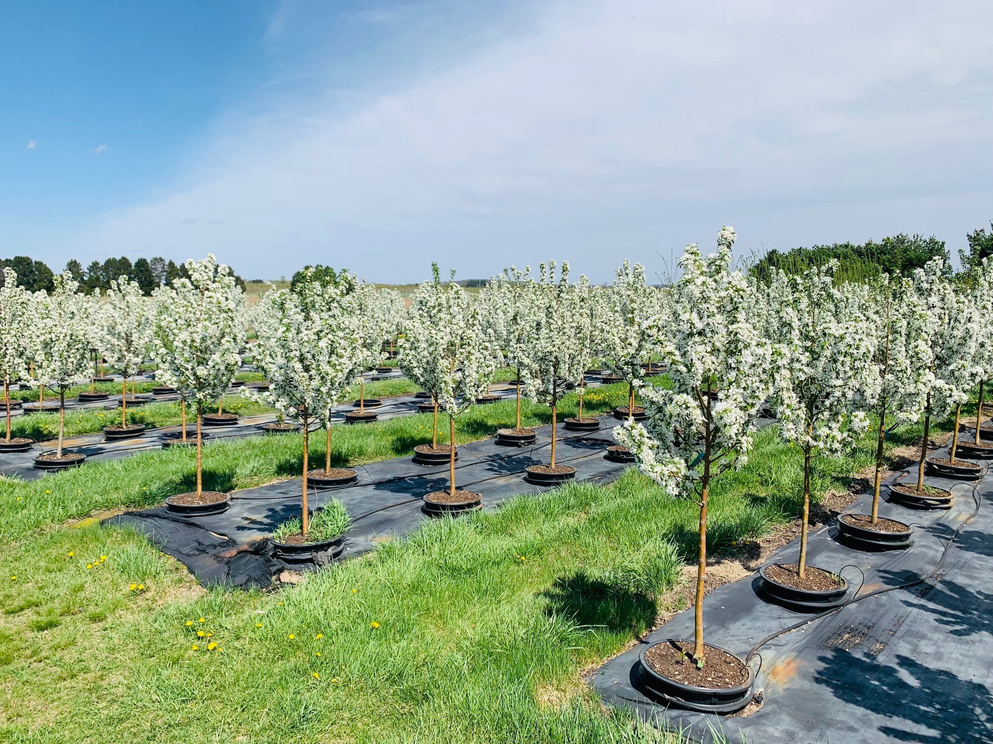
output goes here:
<path id="1" fill-rule="evenodd" d="M 537 434 L 533 429 L 520 425 L 520 389 L 527 380 L 521 373 L 527 371 L 523 364 L 531 331 L 534 327 L 535 284 L 530 276 L 531 267 L 519 271 L 511 266 L 490 280 L 481 293 L 481 306 L 485 321 L 497 339 L 497 345 L 516 372 L 514 379 L 513 429 L 497 430 L 497 443 L 509 446 L 533 444 Z"/>

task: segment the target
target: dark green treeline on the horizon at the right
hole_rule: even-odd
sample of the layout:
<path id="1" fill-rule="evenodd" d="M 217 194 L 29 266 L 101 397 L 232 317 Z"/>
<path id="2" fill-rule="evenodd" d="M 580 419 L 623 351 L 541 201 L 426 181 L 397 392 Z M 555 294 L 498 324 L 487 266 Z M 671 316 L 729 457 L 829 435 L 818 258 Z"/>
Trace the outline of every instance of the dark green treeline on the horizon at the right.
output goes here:
<path id="1" fill-rule="evenodd" d="M 989 234 L 985 229 L 979 228 L 968 233 L 965 239 L 969 250 L 958 252 L 963 269 L 978 265 L 983 258 L 993 256 L 993 222 L 990 223 Z M 752 267 L 752 272 L 768 281 L 773 269 L 781 269 L 786 274 L 798 274 L 837 259 L 837 281 L 862 282 L 884 272 L 908 275 L 937 256 L 948 264 L 949 255 L 943 240 L 938 240 L 933 235 L 925 238 L 922 235 L 900 233 L 879 242 L 870 240 L 862 245 L 833 243 L 793 248 L 785 253 L 773 250 Z M 950 265 L 946 271 L 951 273 Z"/>

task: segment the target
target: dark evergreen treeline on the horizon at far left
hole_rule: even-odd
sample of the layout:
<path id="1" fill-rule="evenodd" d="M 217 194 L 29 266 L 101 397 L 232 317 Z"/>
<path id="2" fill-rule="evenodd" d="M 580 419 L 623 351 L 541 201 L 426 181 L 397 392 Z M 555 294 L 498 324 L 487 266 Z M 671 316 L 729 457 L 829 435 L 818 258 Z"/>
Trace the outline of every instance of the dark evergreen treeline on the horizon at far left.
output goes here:
<path id="1" fill-rule="evenodd" d="M 17 272 L 17 283 L 26 290 L 51 292 L 54 289 L 54 273 L 44 261 L 36 261 L 30 256 L 15 256 L 0 260 L 0 272 L 8 266 Z M 72 259 L 66 264 L 65 270 L 79 283 L 79 289 L 87 295 L 92 294 L 94 290 L 109 289 L 110 280 L 116 280 L 122 275 L 136 282 L 145 295 L 151 295 L 156 287 L 172 285 L 173 280 L 188 276 L 185 266 L 182 264 L 177 266 L 175 261 L 167 261 L 161 256 L 150 259 L 139 258 L 134 263 L 131 263 L 127 256 L 108 258 L 102 264 L 93 261 L 85 270 L 82 264 Z M 234 279 L 238 286 L 244 289 L 241 277 L 235 276 Z M 0 273 L 0 285 L 2 284 L 3 275 Z"/>

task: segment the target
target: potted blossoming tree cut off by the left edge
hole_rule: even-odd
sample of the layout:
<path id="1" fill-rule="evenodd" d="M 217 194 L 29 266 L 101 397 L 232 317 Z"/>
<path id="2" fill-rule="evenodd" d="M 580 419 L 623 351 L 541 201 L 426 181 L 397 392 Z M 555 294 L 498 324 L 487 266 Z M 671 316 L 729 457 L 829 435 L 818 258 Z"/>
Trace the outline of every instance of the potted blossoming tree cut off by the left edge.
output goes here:
<path id="1" fill-rule="evenodd" d="M 27 436 L 10 434 L 10 387 L 28 379 L 31 337 L 37 327 L 34 298 L 17 284 L 13 269 L 3 270 L 0 287 L 0 376 L 3 377 L 3 402 L 7 414 L 7 434 L 0 441 L 0 452 L 26 452 L 35 443 Z"/>

